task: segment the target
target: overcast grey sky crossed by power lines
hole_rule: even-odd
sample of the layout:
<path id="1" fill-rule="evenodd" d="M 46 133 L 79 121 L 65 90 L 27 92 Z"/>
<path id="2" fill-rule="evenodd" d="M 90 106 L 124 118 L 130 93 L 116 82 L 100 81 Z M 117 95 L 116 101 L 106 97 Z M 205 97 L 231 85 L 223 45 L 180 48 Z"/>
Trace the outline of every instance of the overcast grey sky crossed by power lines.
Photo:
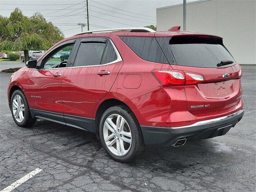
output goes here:
<path id="1" fill-rule="evenodd" d="M 180 3 L 183 0 L 88 0 L 89 27 L 100 30 L 156 25 L 156 8 Z M 78 23 L 87 24 L 86 0 L 0 0 L 0 15 L 10 16 L 16 7 L 25 16 L 40 12 L 65 37 L 81 32 Z M 86 30 L 87 26 L 83 28 Z"/>

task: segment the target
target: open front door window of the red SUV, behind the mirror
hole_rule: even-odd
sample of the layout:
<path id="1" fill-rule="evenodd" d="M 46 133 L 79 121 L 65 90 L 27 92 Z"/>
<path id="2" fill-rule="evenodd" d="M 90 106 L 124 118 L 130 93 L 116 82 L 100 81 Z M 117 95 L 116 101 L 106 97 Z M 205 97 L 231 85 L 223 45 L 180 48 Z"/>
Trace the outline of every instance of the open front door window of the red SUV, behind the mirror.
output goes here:
<path id="1" fill-rule="evenodd" d="M 52 53 L 46 61 L 44 62 L 44 69 L 48 68 L 62 68 L 66 67 L 68 58 L 73 50 L 74 43 L 67 44 L 60 48 L 57 48 Z"/>

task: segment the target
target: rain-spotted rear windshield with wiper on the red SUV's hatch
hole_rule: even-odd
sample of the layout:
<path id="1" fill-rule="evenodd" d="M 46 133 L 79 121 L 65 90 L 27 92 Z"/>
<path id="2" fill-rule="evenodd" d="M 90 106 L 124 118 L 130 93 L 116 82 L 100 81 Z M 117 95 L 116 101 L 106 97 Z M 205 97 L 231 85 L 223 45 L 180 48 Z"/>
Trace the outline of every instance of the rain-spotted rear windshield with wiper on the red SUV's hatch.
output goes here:
<path id="1" fill-rule="evenodd" d="M 222 67 L 235 64 L 234 58 L 220 38 L 172 37 L 169 38 L 168 44 L 169 53 L 165 52 L 165 54 L 172 54 L 176 64 L 180 66 L 217 68 L 217 64 L 221 61 L 233 62 Z"/>

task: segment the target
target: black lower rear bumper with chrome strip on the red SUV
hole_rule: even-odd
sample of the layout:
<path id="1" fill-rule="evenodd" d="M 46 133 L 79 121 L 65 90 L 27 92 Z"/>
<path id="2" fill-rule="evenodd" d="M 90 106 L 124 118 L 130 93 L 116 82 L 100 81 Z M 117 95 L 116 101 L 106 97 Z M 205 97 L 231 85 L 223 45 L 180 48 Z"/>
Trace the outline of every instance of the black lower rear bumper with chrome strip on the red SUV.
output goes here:
<path id="1" fill-rule="evenodd" d="M 146 145 L 173 146 L 181 138 L 195 141 L 224 135 L 242 119 L 243 115 L 244 110 L 240 110 L 228 116 L 196 122 L 189 126 L 141 126 L 141 130 Z"/>

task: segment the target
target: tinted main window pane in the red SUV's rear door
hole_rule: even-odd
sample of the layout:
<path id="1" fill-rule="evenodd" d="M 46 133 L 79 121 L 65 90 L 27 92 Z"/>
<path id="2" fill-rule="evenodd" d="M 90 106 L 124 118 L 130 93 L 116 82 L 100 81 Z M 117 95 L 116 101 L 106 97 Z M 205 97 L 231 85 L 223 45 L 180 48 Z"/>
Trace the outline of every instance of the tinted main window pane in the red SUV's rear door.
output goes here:
<path id="1" fill-rule="evenodd" d="M 74 66 L 99 65 L 105 46 L 105 43 L 81 43 Z"/>

